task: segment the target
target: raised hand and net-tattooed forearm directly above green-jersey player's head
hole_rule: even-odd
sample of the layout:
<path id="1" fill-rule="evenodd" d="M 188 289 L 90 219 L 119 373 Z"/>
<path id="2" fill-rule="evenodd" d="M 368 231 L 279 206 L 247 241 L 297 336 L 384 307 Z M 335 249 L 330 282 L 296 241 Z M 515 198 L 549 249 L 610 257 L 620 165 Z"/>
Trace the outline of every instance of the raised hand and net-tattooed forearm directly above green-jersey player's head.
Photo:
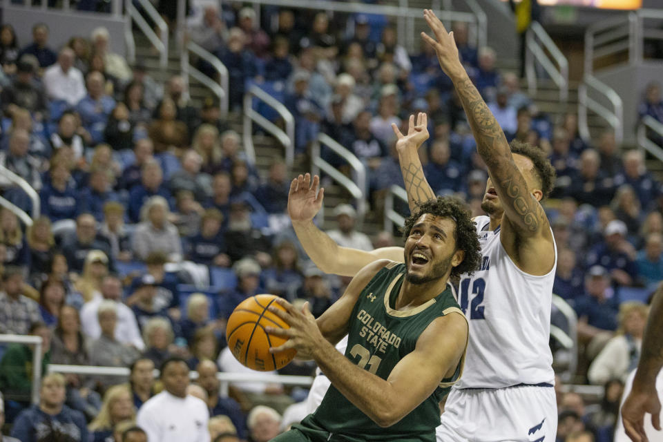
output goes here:
<path id="1" fill-rule="evenodd" d="M 407 124 L 407 135 L 403 135 L 398 126 L 392 123 L 392 129 L 396 134 L 396 151 L 398 151 L 398 162 L 401 164 L 401 173 L 403 173 L 403 182 L 405 182 L 405 191 L 407 191 L 407 204 L 410 211 L 415 211 L 416 207 L 428 200 L 435 198 L 435 193 L 426 181 L 419 160 L 419 146 L 428 140 L 428 117 L 425 113 L 419 113 L 416 117 L 416 126 L 414 124 L 414 115 L 410 115 L 410 122 Z"/>

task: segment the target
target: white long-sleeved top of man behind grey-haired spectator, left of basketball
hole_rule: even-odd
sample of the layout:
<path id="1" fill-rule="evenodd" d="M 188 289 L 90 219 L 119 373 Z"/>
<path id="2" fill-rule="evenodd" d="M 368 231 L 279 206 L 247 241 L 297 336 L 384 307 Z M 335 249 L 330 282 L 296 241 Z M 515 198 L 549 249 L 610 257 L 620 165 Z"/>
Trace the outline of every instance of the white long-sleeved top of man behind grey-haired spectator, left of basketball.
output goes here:
<path id="1" fill-rule="evenodd" d="M 102 328 L 99 327 L 99 318 L 97 311 L 104 298 L 99 294 L 93 300 L 86 302 L 81 307 L 81 329 L 83 334 L 90 339 L 97 339 L 102 336 Z M 136 316 L 131 309 L 117 302 L 117 327 L 115 327 L 115 340 L 122 344 L 133 345 L 139 350 L 145 348 L 145 343 L 140 336 L 140 329 L 136 322 Z"/>

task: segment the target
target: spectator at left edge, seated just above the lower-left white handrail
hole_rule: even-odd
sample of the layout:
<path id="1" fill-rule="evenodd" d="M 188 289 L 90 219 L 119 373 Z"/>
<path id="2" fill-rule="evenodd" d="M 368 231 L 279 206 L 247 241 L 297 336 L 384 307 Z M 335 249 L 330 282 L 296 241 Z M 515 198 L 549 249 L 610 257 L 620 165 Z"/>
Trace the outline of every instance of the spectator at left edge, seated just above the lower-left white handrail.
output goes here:
<path id="1" fill-rule="evenodd" d="M 12 131 L 9 139 L 9 150 L 0 151 L 0 164 L 19 177 L 26 180 L 36 191 L 41 190 L 41 175 L 39 166 L 41 162 L 28 153 L 30 148 L 30 134 L 23 129 Z M 12 187 L 6 178 L 0 181 L 3 189 Z"/>

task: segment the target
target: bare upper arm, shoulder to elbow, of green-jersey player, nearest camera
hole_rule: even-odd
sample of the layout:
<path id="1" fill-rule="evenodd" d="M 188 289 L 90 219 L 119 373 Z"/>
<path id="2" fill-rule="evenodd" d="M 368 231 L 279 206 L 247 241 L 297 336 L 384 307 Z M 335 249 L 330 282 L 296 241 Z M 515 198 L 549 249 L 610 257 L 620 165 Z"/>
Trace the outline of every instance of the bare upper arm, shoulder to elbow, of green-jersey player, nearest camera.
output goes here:
<path id="1" fill-rule="evenodd" d="M 453 376 L 468 345 L 468 321 L 451 313 L 434 320 L 419 336 L 414 352 L 403 358 L 387 378 L 383 401 L 385 424 L 394 425 Z M 416 379 L 416 383 L 412 382 Z"/>

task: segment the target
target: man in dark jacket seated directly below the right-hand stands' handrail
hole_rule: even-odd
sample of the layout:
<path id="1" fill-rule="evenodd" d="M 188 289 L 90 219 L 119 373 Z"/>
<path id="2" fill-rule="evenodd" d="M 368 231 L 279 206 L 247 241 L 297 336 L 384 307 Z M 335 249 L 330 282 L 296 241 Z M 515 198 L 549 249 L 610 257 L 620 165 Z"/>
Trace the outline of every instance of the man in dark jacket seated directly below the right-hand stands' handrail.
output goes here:
<path id="1" fill-rule="evenodd" d="M 580 204 L 610 204 L 615 193 L 613 180 L 599 169 L 600 165 L 597 151 L 586 149 L 580 157 L 579 171 L 573 175 L 571 184 L 566 189 L 566 195 L 573 196 Z"/>

